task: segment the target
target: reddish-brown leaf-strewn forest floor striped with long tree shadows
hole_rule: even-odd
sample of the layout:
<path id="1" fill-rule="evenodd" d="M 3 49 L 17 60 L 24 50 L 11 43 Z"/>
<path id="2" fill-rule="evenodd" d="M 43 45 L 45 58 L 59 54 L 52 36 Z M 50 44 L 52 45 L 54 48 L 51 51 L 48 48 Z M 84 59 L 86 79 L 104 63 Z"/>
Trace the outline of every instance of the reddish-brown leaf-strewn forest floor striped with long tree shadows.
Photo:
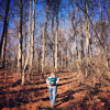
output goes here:
<path id="1" fill-rule="evenodd" d="M 45 75 L 45 78 L 50 75 Z M 110 80 L 92 86 L 84 84 L 77 73 L 58 73 L 59 84 L 54 110 L 110 110 Z M 0 110 L 53 110 L 45 79 L 33 76 L 31 82 L 20 85 L 8 72 L 0 72 Z"/>

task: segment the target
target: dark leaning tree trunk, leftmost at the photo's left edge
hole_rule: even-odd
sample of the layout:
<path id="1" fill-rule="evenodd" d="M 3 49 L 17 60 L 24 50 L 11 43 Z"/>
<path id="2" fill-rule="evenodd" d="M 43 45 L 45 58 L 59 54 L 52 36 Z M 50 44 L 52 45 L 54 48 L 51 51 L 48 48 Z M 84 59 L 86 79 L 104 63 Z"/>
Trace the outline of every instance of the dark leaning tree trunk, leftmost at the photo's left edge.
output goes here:
<path id="1" fill-rule="evenodd" d="M 8 0 L 6 4 L 6 10 L 4 10 L 4 20 L 3 20 L 3 31 L 2 31 L 2 36 L 1 36 L 1 42 L 0 42 L 0 57 L 2 61 L 2 67 L 4 68 L 4 62 L 6 62 L 6 46 L 7 46 L 7 33 L 8 33 L 8 23 L 9 23 L 9 8 L 10 8 L 10 1 Z"/>

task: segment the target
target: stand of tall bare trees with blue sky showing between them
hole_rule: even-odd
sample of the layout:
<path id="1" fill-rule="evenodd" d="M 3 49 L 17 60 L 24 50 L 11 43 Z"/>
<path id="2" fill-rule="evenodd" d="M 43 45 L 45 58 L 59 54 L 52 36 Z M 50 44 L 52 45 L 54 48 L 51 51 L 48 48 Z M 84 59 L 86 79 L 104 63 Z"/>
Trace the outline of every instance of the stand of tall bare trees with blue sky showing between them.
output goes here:
<path id="1" fill-rule="evenodd" d="M 48 73 L 110 80 L 110 0 L 0 0 L 0 72 L 20 85 Z"/>

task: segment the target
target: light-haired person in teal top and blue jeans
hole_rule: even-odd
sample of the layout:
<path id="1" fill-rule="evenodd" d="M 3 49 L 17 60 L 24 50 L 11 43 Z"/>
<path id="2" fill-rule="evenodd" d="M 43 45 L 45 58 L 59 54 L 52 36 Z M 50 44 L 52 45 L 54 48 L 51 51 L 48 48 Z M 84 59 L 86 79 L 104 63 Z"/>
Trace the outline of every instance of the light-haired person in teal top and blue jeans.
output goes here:
<path id="1" fill-rule="evenodd" d="M 54 107 L 55 98 L 56 98 L 56 86 L 59 81 L 59 78 L 55 76 L 54 73 L 51 74 L 51 77 L 47 77 L 46 84 L 48 85 L 50 91 L 50 101 L 52 107 Z"/>

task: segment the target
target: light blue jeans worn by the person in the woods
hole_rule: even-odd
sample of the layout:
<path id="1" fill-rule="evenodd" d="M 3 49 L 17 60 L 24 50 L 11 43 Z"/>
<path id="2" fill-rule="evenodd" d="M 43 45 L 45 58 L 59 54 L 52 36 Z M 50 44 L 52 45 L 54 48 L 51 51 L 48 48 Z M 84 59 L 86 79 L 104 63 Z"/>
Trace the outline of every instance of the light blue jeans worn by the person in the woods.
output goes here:
<path id="1" fill-rule="evenodd" d="M 56 98 L 56 86 L 55 87 L 48 87 L 50 90 L 50 101 L 52 103 L 52 107 L 54 107 L 55 98 Z"/>

